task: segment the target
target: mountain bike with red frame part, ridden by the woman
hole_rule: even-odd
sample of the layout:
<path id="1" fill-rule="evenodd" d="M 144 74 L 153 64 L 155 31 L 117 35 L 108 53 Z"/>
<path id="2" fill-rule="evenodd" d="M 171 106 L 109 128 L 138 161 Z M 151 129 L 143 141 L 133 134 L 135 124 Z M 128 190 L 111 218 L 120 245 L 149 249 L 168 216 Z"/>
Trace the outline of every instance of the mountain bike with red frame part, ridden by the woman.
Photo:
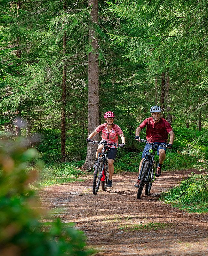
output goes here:
<path id="1" fill-rule="evenodd" d="M 106 191 L 109 180 L 108 173 L 108 145 L 116 146 L 119 148 L 119 145 L 116 143 L 107 143 L 106 140 L 100 141 L 91 141 L 92 144 L 103 144 L 102 152 L 98 154 L 98 160 L 94 171 L 93 183 L 92 183 L 92 193 L 96 195 L 100 187 L 100 181 L 102 181 L 102 190 Z"/>

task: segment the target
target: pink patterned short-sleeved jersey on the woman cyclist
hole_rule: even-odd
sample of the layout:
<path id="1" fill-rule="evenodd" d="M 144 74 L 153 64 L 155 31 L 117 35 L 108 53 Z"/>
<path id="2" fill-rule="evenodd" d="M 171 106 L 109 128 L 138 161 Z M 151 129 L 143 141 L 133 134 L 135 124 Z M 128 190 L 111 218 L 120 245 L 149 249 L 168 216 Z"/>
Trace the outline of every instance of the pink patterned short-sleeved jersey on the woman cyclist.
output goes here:
<path id="1" fill-rule="evenodd" d="M 118 143 L 118 135 L 121 135 L 123 132 L 117 124 L 112 125 L 112 129 L 108 132 L 108 124 L 100 124 L 98 128 L 95 129 L 97 132 L 102 131 L 102 140 L 107 140 L 107 143 Z M 116 148 L 116 146 L 108 146 L 109 148 Z"/>

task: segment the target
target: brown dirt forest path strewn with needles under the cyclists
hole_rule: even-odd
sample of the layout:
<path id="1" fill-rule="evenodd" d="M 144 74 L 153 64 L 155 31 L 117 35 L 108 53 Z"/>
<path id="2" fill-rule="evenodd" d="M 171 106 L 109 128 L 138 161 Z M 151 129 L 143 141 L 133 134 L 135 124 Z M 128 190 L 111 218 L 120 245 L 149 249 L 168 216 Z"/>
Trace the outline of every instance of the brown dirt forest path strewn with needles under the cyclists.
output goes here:
<path id="1" fill-rule="evenodd" d="M 63 222 L 74 222 L 84 231 L 96 256 L 205 256 L 208 214 L 183 212 L 159 200 L 161 192 L 190 172 L 163 172 L 151 195 L 140 200 L 132 172 L 114 174 L 113 188 L 100 188 L 97 195 L 92 194 L 92 175 L 86 175 L 84 182 L 46 187 L 40 196 L 43 207 L 57 209 Z"/>

